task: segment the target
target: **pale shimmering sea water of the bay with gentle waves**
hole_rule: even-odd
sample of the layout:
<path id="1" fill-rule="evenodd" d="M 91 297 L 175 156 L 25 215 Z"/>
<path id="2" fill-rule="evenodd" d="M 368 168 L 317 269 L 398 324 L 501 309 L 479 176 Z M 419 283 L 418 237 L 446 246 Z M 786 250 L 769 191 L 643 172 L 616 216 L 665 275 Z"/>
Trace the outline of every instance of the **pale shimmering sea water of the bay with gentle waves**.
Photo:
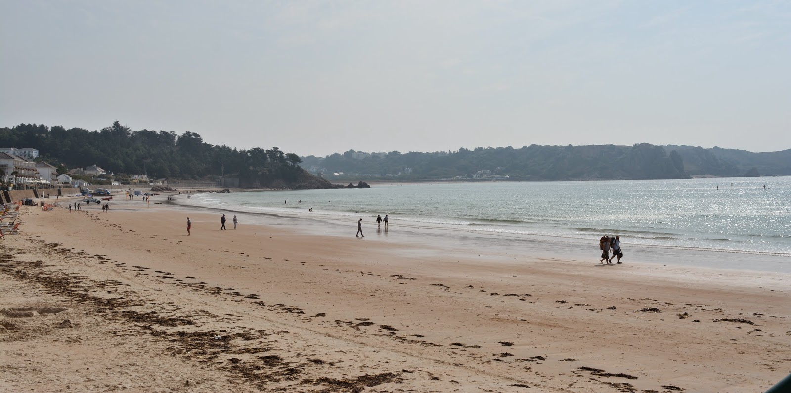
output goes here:
<path id="1" fill-rule="evenodd" d="M 198 194 L 188 201 L 326 222 L 363 218 L 369 223 L 377 214 L 388 214 L 401 227 L 463 230 L 473 236 L 551 236 L 597 246 L 600 236 L 619 235 L 625 244 L 648 247 L 791 256 L 789 176 L 393 183 L 369 189 Z"/>

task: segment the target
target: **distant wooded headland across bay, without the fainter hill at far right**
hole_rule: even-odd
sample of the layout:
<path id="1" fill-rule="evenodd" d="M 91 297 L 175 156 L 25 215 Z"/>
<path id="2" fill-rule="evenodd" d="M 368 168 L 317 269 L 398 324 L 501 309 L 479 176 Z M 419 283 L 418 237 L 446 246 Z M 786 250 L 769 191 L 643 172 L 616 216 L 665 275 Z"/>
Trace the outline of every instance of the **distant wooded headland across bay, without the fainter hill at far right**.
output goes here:
<path id="1" fill-rule="evenodd" d="M 450 152 L 400 153 L 360 157 L 354 150 L 327 157 L 302 157 L 304 168 L 402 179 L 509 176 L 515 180 L 684 179 L 683 160 L 675 151 L 641 143 L 633 146 L 542 146 L 519 149 L 478 147 Z M 400 174 L 400 175 L 399 175 Z"/>

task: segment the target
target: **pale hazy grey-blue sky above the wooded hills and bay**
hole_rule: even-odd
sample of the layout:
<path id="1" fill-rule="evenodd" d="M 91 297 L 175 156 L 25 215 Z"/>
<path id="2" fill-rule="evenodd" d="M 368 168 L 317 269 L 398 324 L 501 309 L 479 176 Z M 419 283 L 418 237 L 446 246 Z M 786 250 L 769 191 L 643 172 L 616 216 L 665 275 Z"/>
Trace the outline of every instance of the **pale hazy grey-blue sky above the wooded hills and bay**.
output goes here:
<path id="1" fill-rule="evenodd" d="M 789 149 L 791 3 L 0 0 L 0 126 L 116 119 L 317 156 Z"/>

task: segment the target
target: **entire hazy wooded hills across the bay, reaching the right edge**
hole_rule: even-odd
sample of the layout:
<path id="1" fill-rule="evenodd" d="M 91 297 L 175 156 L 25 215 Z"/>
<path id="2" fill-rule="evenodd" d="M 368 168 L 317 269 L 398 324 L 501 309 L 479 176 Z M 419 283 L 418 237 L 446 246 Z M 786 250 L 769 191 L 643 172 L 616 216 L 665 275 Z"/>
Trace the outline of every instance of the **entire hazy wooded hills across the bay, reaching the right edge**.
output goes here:
<path id="1" fill-rule="evenodd" d="M 346 176 L 471 178 L 479 171 L 513 180 L 686 179 L 690 176 L 791 175 L 791 149 L 753 153 L 687 145 L 530 145 L 433 153 L 362 153 L 301 157 L 302 167 Z M 486 172 L 488 174 L 488 172 Z"/>

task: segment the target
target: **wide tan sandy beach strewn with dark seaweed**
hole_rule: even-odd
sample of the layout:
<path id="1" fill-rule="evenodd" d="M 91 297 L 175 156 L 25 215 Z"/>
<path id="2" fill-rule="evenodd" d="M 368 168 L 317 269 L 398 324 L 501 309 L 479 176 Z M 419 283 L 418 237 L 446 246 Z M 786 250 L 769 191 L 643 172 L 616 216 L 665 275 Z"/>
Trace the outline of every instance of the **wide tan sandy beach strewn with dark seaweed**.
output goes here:
<path id="1" fill-rule="evenodd" d="M 59 202 L 0 240 L 0 391 L 736 393 L 791 372 L 788 274 Z"/>

